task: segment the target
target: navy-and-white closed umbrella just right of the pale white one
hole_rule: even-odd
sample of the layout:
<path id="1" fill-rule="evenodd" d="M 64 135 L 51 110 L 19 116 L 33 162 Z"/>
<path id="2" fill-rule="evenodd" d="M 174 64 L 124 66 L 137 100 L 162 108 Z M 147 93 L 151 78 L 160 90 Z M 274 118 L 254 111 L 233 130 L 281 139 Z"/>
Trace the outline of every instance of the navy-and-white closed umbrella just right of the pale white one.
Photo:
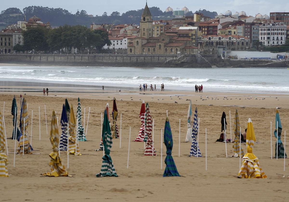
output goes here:
<path id="1" fill-rule="evenodd" d="M 192 130 L 192 145 L 191 145 L 191 150 L 190 150 L 190 157 L 195 156 L 195 157 L 202 157 L 200 148 L 198 147 L 198 142 L 197 142 L 197 135 L 198 135 L 198 128 L 199 128 L 199 123 L 198 123 L 198 109 L 196 107 L 195 113 L 194 113 L 194 122 L 193 122 L 193 130 Z"/>

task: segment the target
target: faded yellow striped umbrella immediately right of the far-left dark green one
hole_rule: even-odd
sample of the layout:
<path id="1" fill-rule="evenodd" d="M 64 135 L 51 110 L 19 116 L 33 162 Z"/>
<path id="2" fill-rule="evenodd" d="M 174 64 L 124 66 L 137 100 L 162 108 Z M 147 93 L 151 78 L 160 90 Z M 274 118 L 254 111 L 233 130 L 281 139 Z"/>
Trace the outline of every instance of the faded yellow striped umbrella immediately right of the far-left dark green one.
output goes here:
<path id="1" fill-rule="evenodd" d="M 25 122 L 24 122 L 25 119 Z M 20 115 L 20 136 L 19 136 L 19 143 L 18 143 L 18 153 L 23 153 L 23 141 L 24 141 L 24 154 L 32 154 L 32 147 L 28 141 L 27 135 L 27 128 L 28 128 L 28 112 L 27 112 L 27 103 L 26 100 L 23 98 L 22 108 L 21 108 L 21 115 Z M 25 131 L 25 134 L 24 134 Z"/>

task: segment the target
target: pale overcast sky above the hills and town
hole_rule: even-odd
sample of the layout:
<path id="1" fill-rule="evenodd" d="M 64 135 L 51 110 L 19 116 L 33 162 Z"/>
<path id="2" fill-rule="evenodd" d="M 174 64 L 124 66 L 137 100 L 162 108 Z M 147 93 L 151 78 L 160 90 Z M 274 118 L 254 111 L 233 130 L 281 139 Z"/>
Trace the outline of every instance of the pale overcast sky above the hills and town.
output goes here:
<path id="1" fill-rule="evenodd" d="M 41 3 L 40 3 L 41 2 Z M 192 2 L 192 3 L 188 3 Z M 1 10 L 5 10 L 10 7 L 19 8 L 21 11 L 23 8 L 31 5 L 50 7 L 50 8 L 63 8 L 75 14 L 77 9 L 86 10 L 88 14 L 92 15 L 102 15 L 103 12 L 111 14 L 113 11 L 118 11 L 121 14 L 128 10 L 138 10 L 144 8 L 145 0 L 49 0 L 49 1 L 36 1 L 36 0 L 25 0 L 25 1 L 5 1 L 5 4 L 1 5 Z M 216 11 L 218 14 L 225 13 L 227 10 L 231 10 L 233 13 L 244 10 L 247 15 L 255 16 L 257 13 L 268 14 L 270 12 L 289 12 L 289 1 L 288 0 L 279 0 L 277 2 L 270 0 L 231 0 L 225 1 L 212 1 L 207 0 L 205 3 L 202 1 L 188 1 L 188 0 L 148 0 L 149 7 L 159 7 L 162 11 L 165 11 L 168 6 L 176 10 L 177 8 L 183 8 L 186 6 L 190 11 L 195 12 L 200 8 Z M 41 17 L 41 16 L 40 16 Z"/>

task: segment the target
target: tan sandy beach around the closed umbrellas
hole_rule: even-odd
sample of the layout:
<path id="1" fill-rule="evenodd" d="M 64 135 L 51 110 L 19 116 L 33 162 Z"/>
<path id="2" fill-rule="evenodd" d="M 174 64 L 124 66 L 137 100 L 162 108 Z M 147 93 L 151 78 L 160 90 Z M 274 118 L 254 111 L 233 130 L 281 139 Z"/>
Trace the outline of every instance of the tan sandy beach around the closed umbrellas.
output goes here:
<path id="1" fill-rule="evenodd" d="M 18 87 L 19 88 L 19 87 Z M 16 89 L 16 87 L 15 87 Z M 91 92 L 54 92 L 51 89 L 48 97 L 38 92 L 29 91 L 27 88 L 14 91 L 1 92 L 0 109 L 2 111 L 5 101 L 5 124 L 8 137 L 12 136 L 11 103 L 13 94 L 16 94 L 19 107 L 19 95 L 27 92 L 25 99 L 28 103 L 29 126 L 31 130 L 31 110 L 33 110 L 33 134 L 32 146 L 34 153 L 16 155 L 16 167 L 13 167 L 13 153 L 8 156 L 8 178 L 1 178 L 0 185 L 2 201 L 288 201 L 288 160 L 286 169 L 283 171 L 283 159 L 272 159 L 270 151 L 270 121 L 275 126 L 276 107 L 282 121 L 283 131 L 289 131 L 289 97 L 288 94 L 262 94 L 262 93 L 194 93 L 188 91 L 165 91 L 139 94 L 138 91 L 116 90 L 101 91 L 89 90 Z M 14 91 L 14 92 L 11 92 Z M 23 93 L 22 93 L 23 95 Z M 57 96 L 55 96 L 57 95 Z M 169 96 L 172 96 L 170 100 Z M 183 98 L 179 100 L 179 98 Z M 201 101 L 202 98 L 207 99 Z M 208 97 L 219 98 L 210 100 Z M 223 100 L 226 96 L 229 100 Z M 244 99 L 252 96 L 251 100 Z M 271 96 L 271 97 L 270 97 Z M 62 104 L 68 98 L 69 104 L 77 111 L 77 97 L 81 99 L 82 115 L 86 108 L 86 121 L 88 108 L 90 107 L 89 124 L 86 142 L 79 141 L 82 156 L 69 156 L 68 173 L 73 177 L 40 177 L 41 173 L 50 171 L 48 156 L 51 152 L 49 141 L 49 130 L 52 110 L 56 111 L 60 120 Z M 101 139 L 101 112 L 104 111 L 108 102 L 110 113 L 112 110 L 112 99 L 116 97 L 118 120 L 120 130 L 120 114 L 122 113 L 122 139 L 113 139 L 111 158 L 119 177 L 96 178 L 95 174 L 100 172 L 102 162 L 102 151 L 95 152 L 99 148 Z M 132 97 L 132 98 L 130 98 Z M 151 97 L 154 97 L 153 99 Z M 257 98 L 255 100 L 254 98 Z M 275 97 L 278 97 L 277 99 Z M 157 100 L 160 98 L 160 100 Z M 161 98 L 164 98 L 162 100 Z M 237 99 L 235 99 L 237 98 Z M 241 98 L 241 100 L 239 100 Z M 259 100 L 259 98 L 266 98 Z M 122 99 L 123 101 L 120 101 Z M 133 99 L 133 100 L 131 100 Z M 140 106 L 142 100 L 149 102 L 151 116 L 155 120 L 154 146 L 157 156 L 144 156 L 144 143 L 132 142 L 137 136 L 140 128 Z M 186 99 L 192 99 L 192 111 L 197 106 L 200 118 L 199 147 L 205 156 L 205 128 L 208 134 L 208 170 L 205 171 L 205 158 L 187 157 L 190 152 L 191 143 L 185 143 L 187 131 L 188 103 Z M 230 100 L 232 99 L 232 100 Z M 173 103 L 173 100 L 179 102 Z M 198 101 L 196 101 L 198 100 Z M 213 106 L 208 106 L 213 104 Z M 44 105 L 47 111 L 47 130 L 45 125 Z M 39 141 L 39 117 L 38 106 L 41 116 L 41 140 Z M 245 106 L 245 108 L 241 108 Z M 267 179 L 238 179 L 239 158 L 230 158 L 233 154 L 231 143 L 227 143 L 228 158 L 225 154 L 225 143 L 215 142 L 221 133 L 221 115 L 227 114 L 227 138 L 230 138 L 229 111 L 231 111 L 232 138 L 234 138 L 234 116 L 238 109 L 242 132 L 247 127 L 248 118 L 252 119 L 255 129 L 256 141 L 253 153 L 259 158 L 260 165 L 268 176 Z M 163 169 L 160 169 L 160 136 L 161 128 L 164 128 L 166 110 L 173 133 L 172 156 L 181 177 L 162 177 Z M 111 114 L 110 114 L 111 116 Z M 18 113 L 19 118 L 19 113 Z M 179 119 L 181 119 L 181 143 L 180 157 L 178 157 L 179 141 Z M 83 122 L 83 117 L 82 117 Z M 131 126 L 129 169 L 127 166 L 129 127 Z M 86 126 L 85 126 L 86 128 Z M 284 143 L 284 132 L 282 141 Z M 61 129 L 59 128 L 61 134 Z M 273 136 L 273 155 L 275 153 L 276 139 Z M 30 141 L 30 137 L 29 137 Z M 287 142 L 287 141 L 286 141 Z M 18 145 L 18 143 L 17 143 Z M 288 144 L 287 144 L 288 145 Z M 288 148 L 288 147 L 286 147 Z M 246 152 L 245 144 L 242 149 Z M 13 152 L 14 141 L 8 139 L 8 150 Z M 163 161 L 166 149 L 163 145 Z M 65 152 L 60 152 L 62 164 L 67 166 Z M 276 173 L 284 174 L 285 178 Z M 247 197 L 249 197 L 247 199 Z"/>

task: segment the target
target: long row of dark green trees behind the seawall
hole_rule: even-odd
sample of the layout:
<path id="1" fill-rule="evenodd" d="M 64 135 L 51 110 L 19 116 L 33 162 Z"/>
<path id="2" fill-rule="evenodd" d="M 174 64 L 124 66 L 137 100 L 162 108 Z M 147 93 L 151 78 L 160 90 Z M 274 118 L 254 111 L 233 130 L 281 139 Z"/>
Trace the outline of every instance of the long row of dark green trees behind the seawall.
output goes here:
<path id="1" fill-rule="evenodd" d="M 16 44 L 13 49 L 52 53 L 66 48 L 67 53 L 71 53 L 72 48 L 77 48 L 79 53 L 83 53 L 85 49 L 100 50 L 105 44 L 111 45 L 111 42 L 103 30 L 91 31 L 82 25 L 64 25 L 55 29 L 38 26 L 23 31 L 23 45 Z"/>

